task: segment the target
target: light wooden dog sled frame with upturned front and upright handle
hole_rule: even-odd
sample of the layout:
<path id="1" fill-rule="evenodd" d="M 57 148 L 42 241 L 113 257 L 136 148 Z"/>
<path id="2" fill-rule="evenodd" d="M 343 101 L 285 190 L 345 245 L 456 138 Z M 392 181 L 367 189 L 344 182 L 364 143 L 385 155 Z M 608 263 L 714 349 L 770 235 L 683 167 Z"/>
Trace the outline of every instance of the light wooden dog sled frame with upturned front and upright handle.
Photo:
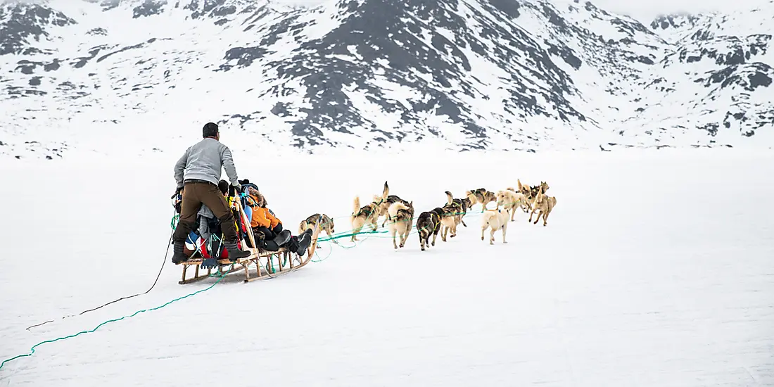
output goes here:
<path id="1" fill-rule="evenodd" d="M 239 216 L 244 224 L 250 224 L 250 220 L 247 218 L 244 209 L 241 207 L 240 200 L 234 200 L 234 206 L 237 209 Z M 204 262 L 204 259 L 188 259 L 186 262 L 180 262 L 179 265 L 183 265 L 183 278 L 178 281 L 180 285 L 185 283 L 194 283 L 201 279 L 212 276 L 213 271 L 217 276 L 225 276 L 232 272 L 245 272 L 245 283 L 255 281 L 256 279 L 269 279 L 277 276 L 282 276 L 289 272 L 301 269 L 304 265 L 307 265 L 312 260 L 314 251 L 317 248 L 317 237 L 320 235 L 320 221 L 314 226 L 312 231 L 312 241 L 309 248 L 307 248 L 307 255 L 303 257 L 287 251 L 286 248 L 279 248 L 276 252 L 269 252 L 262 248 L 247 248 L 252 254 L 244 259 L 238 259 L 236 262 L 231 262 L 230 259 L 219 259 L 217 261 L 217 269 L 207 269 L 207 273 L 200 273 L 200 265 Z M 250 245 L 255 246 L 255 235 L 252 233 L 252 228 L 247 227 L 247 237 Z M 245 246 L 245 244 L 242 244 Z M 276 265 L 274 258 L 276 257 Z M 266 264 L 262 264 L 262 259 L 265 259 Z M 255 264 L 256 274 L 254 277 L 250 276 L 249 266 Z M 186 279 L 186 272 L 189 266 L 194 266 L 194 276 Z M 224 268 L 228 268 L 225 269 Z M 202 270 L 203 271 L 203 270 Z"/>

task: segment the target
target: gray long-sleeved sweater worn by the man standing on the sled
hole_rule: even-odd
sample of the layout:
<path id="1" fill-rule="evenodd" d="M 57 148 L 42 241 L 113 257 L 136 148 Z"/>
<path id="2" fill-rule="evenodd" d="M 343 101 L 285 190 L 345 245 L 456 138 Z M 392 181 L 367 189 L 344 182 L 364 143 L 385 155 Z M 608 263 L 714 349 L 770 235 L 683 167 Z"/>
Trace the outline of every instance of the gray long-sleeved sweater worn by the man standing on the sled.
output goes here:
<path id="1" fill-rule="evenodd" d="M 189 179 L 209 181 L 217 186 L 223 169 L 231 184 L 237 185 L 237 170 L 231 149 L 216 139 L 206 138 L 186 149 L 183 157 L 177 160 L 175 181 L 177 187 L 183 187 L 183 182 Z"/>

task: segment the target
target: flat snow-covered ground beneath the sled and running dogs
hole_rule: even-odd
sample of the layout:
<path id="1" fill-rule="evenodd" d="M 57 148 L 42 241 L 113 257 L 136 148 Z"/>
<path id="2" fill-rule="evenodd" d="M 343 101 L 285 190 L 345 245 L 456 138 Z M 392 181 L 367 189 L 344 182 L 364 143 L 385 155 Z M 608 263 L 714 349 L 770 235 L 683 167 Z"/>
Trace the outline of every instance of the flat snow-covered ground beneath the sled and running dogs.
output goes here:
<path id="1" fill-rule="evenodd" d="M 166 262 L 150 293 L 60 319 L 153 282 L 163 155 L 0 165 L 0 359 L 214 283 L 178 285 Z M 426 252 L 416 234 L 397 252 L 326 243 L 287 276 L 231 275 L 42 344 L 0 385 L 774 385 L 770 151 L 235 157 L 293 230 L 324 212 L 346 231 L 385 180 L 417 214 L 517 178 L 558 203 L 545 228 L 516 214 L 507 245 L 481 241 L 476 211 Z"/>

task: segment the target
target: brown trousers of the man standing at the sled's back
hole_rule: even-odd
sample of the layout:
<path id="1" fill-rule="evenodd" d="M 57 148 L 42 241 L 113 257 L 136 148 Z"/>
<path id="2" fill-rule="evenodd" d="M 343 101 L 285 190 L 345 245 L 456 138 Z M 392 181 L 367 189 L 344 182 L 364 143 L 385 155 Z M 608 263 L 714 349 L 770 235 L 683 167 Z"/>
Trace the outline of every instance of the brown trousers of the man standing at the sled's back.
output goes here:
<path id="1" fill-rule="evenodd" d="M 194 228 L 197 214 L 204 204 L 221 222 L 223 239 L 227 244 L 236 243 L 237 228 L 228 201 L 217 186 L 206 182 L 188 182 L 183 187 L 183 204 L 180 206 L 180 223 L 175 228 L 173 241 L 184 242 Z"/>

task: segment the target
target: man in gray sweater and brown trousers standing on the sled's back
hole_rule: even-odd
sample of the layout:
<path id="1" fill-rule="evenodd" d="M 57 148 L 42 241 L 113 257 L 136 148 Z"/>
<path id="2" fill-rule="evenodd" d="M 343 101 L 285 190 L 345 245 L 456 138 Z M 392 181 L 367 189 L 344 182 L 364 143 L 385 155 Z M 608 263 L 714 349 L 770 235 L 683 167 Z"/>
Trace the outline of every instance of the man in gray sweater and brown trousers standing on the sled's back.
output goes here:
<path id="1" fill-rule="evenodd" d="M 221 222 L 228 259 L 235 261 L 250 255 L 250 252 L 242 251 L 237 246 L 239 238 L 234 214 L 231 213 L 231 208 L 228 207 L 228 202 L 221 190 L 217 188 L 217 183 L 221 180 L 221 170 L 225 169 L 231 185 L 241 192 L 231 149 L 219 141 L 221 133 L 213 122 L 204 125 L 202 135 L 204 139 L 188 148 L 175 164 L 177 190 L 183 190 L 180 223 L 177 224 L 172 237 L 174 242 L 172 262 L 175 264 L 188 259 L 183 252 L 184 243 L 191 229 L 194 228 L 202 204 L 210 208 L 217 220 Z"/>

